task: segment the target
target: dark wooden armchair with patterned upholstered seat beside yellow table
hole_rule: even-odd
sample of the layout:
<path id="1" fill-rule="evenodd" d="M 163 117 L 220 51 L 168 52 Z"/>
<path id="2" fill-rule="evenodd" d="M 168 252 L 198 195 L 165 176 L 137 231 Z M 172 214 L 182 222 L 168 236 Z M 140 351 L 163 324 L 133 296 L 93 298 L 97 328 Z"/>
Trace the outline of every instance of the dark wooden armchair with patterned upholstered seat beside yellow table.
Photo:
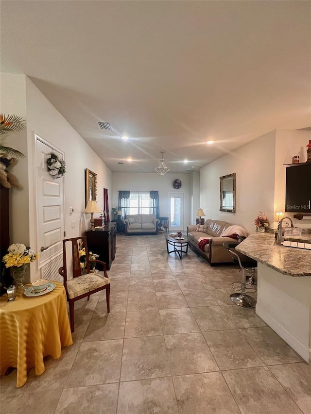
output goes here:
<path id="1" fill-rule="evenodd" d="M 72 248 L 72 279 L 67 279 L 67 257 L 66 257 L 66 243 L 71 243 Z M 82 274 L 80 258 L 79 258 L 79 242 L 80 246 L 86 249 L 86 275 Z M 76 300 L 85 298 L 89 300 L 90 295 L 100 290 L 106 289 L 107 312 L 110 312 L 110 281 L 106 272 L 106 264 L 100 260 L 89 260 L 88 248 L 86 244 L 86 236 L 72 237 L 71 239 L 63 240 L 63 266 L 58 269 L 58 273 L 64 278 L 64 287 L 67 293 L 67 300 L 69 302 L 69 315 L 71 332 L 74 332 L 74 302 Z M 98 263 L 103 267 L 104 277 L 97 273 L 91 273 L 90 264 Z M 70 273 L 69 273 L 70 274 Z"/>

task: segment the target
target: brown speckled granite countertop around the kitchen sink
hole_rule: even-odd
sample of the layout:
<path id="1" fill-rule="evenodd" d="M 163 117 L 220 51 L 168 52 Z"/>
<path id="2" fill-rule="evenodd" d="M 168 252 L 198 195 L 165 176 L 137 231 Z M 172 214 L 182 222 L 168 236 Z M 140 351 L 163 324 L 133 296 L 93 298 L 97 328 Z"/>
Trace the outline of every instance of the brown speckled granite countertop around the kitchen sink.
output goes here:
<path id="1" fill-rule="evenodd" d="M 310 238 L 311 237 L 303 237 Z M 292 236 L 297 238 L 296 236 Z M 253 233 L 236 250 L 289 276 L 311 276 L 311 250 L 275 246 L 274 234 Z"/>

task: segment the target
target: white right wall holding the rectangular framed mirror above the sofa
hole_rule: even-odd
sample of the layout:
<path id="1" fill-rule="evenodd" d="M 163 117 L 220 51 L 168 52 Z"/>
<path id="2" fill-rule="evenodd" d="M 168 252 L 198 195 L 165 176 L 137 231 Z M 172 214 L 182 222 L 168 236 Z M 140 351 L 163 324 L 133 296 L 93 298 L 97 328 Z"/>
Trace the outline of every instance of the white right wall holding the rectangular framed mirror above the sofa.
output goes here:
<path id="1" fill-rule="evenodd" d="M 201 168 L 200 207 L 206 218 L 240 224 L 255 231 L 259 211 L 274 214 L 275 136 L 269 132 Z M 219 177 L 236 173 L 236 213 L 219 211 Z"/>

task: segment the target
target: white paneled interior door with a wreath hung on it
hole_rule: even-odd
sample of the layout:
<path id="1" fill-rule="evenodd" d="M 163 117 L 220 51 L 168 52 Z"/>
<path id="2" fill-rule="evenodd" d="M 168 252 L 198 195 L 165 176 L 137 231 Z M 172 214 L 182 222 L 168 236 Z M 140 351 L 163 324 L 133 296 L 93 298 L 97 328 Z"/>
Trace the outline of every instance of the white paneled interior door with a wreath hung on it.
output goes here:
<path id="1" fill-rule="evenodd" d="M 35 184 L 37 215 L 38 268 L 60 254 L 65 236 L 64 177 L 54 179 L 48 173 L 46 155 L 55 149 L 35 134 Z"/>

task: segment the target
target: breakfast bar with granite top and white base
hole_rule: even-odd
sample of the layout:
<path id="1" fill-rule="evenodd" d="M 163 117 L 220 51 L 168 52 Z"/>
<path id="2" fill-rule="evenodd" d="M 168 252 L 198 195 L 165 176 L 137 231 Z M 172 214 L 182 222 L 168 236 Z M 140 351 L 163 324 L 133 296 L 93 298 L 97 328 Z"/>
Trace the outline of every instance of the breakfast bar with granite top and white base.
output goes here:
<path id="1" fill-rule="evenodd" d="M 310 239 L 306 234 L 304 239 Z M 236 250 L 258 262 L 256 314 L 311 363 L 311 250 L 276 244 L 254 233 Z"/>

